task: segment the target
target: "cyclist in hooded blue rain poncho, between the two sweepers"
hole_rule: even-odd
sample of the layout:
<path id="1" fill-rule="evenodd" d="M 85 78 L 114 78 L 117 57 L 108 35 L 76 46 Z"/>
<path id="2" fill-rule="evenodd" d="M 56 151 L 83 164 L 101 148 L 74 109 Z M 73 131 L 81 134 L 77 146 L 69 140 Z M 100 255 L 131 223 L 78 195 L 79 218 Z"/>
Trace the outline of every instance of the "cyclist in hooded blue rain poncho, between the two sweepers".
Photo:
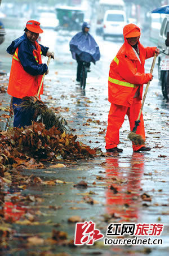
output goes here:
<path id="1" fill-rule="evenodd" d="M 82 32 L 78 32 L 70 40 L 70 51 L 72 58 L 76 59 L 77 66 L 77 82 L 81 80 L 82 63 L 86 62 L 88 71 L 90 71 L 90 62 L 95 64 L 100 59 L 100 50 L 94 37 L 88 33 L 90 25 L 87 22 L 82 24 Z"/>

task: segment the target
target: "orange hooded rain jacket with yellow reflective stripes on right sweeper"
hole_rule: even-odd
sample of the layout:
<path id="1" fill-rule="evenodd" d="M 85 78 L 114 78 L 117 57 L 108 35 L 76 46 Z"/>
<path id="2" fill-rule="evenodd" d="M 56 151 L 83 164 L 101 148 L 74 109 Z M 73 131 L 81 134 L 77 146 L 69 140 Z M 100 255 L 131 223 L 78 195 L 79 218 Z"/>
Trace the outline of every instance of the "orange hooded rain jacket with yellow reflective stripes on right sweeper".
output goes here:
<path id="1" fill-rule="evenodd" d="M 144 73 L 145 59 L 153 57 L 156 47 L 140 44 L 139 57 L 124 38 L 124 44 L 110 64 L 109 71 L 109 102 L 117 105 L 130 106 L 139 86 L 139 99 L 142 100 L 143 84 L 148 83 L 150 74 Z M 141 62 L 141 63 L 140 63 Z"/>

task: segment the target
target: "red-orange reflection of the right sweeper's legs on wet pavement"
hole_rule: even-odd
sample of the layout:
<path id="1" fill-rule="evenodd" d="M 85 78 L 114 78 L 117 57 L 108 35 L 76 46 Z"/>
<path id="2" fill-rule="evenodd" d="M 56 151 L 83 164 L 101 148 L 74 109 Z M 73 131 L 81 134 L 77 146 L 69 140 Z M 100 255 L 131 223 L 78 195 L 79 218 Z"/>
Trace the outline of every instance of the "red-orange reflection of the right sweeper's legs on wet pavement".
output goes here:
<path id="1" fill-rule="evenodd" d="M 140 209 L 141 180 L 144 173 L 144 155 L 133 153 L 128 167 L 119 167 L 117 157 L 106 159 L 106 211 L 117 221 L 137 223 Z"/>

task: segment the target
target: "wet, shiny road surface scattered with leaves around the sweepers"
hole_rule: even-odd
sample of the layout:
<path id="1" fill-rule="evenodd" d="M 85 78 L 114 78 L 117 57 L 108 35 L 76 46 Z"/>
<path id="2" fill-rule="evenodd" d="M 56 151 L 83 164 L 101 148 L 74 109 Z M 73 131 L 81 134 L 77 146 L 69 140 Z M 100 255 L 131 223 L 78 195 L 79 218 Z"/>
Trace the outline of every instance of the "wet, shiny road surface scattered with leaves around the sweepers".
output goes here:
<path id="1" fill-rule="evenodd" d="M 7 31 L 7 37 L 1 46 L 1 69 L 10 71 L 11 59 L 4 49 L 8 45 L 7 40 L 13 40 L 22 35 L 21 31 Z M 49 106 L 61 106 L 69 108 L 69 111 L 61 112 L 68 120 L 69 125 L 76 129 L 78 140 L 91 147 L 99 147 L 105 152 L 105 131 L 110 104 L 108 103 L 108 72 L 109 65 L 119 47 L 121 40 L 109 39 L 103 41 L 101 37 L 95 37 L 100 46 L 101 59 L 96 66 L 91 65 L 88 73 L 86 91 L 84 92 L 75 82 L 76 62 L 69 52 L 69 41 L 74 34 L 67 32 L 45 31 L 42 34 L 41 43 L 50 46 L 56 54 L 55 61 L 50 62 L 50 73 L 45 77 L 45 95 L 43 100 Z M 147 35 L 145 35 L 145 39 Z M 141 37 L 144 46 L 154 46 L 148 40 Z M 46 62 L 47 58 L 43 58 Z M 149 72 L 152 58 L 146 61 L 146 72 Z M 39 235 L 42 238 L 51 237 L 52 229 L 68 232 L 69 239 L 74 239 L 74 224 L 68 224 L 68 218 L 73 215 L 81 216 L 83 220 L 92 220 L 96 228 L 106 235 L 108 222 L 105 214 L 114 216 L 109 218 L 110 223 L 162 223 L 164 231 L 160 238 L 163 245 L 156 246 L 103 246 L 100 242 L 94 246 L 56 246 L 42 244 L 38 246 L 24 246 L 23 240 L 17 236 L 3 251 L 10 255 L 27 255 L 38 251 L 50 251 L 52 253 L 66 252 L 70 255 L 168 255 L 168 104 L 165 103 L 161 93 L 161 87 L 157 79 L 157 67 L 154 69 L 154 79 L 150 83 L 148 95 L 144 104 L 144 121 L 146 143 L 152 147 L 152 151 L 146 153 L 133 153 L 131 142 L 127 139 L 129 133 L 128 120 L 123 123 L 120 132 L 120 147 L 123 153 L 114 156 L 101 157 L 95 160 L 78 161 L 72 164 L 66 163 L 65 168 L 49 168 L 24 170 L 22 174 L 41 177 L 42 180 L 63 180 L 69 184 L 57 184 L 56 186 L 29 186 L 22 191 L 23 195 L 32 194 L 43 198 L 43 203 L 33 202 L 26 207 L 33 209 L 35 220 L 39 225 L 12 224 L 17 236 Z M 52 96 L 52 97 L 51 97 Z M 89 120 L 92 119 L 92 121 Z M 79 181 L 85 181 L 87 189 L 73 187 Z M 118 193 L 110 190 L 115 187 Z M 7 189 L 7 188 L 6 188 Z M 90 193 L 92 191 L 92 193 Z M 90 193 L 90 194 L 84 194 Z M 149 202 L 141 199 L 141 195 L 148 194 Z M 15 195 L 14 192 L 11 194 Z M 90 195 L 96 203 L 86 203 L 83 199 Z M 59 210 L 46 206 L 61 206 Z M 38 210 L 42 214 L 36 214 Z M 48 224 L 44 225 L 45 221 Z M 60 227 L 55 227 L 60 223 Z M 152 237 L 152 239 L 155 237 Z M 157 237 L 156 237 L 157 238 Z M 39 254 L 38 254 L 39 255 Z"/>

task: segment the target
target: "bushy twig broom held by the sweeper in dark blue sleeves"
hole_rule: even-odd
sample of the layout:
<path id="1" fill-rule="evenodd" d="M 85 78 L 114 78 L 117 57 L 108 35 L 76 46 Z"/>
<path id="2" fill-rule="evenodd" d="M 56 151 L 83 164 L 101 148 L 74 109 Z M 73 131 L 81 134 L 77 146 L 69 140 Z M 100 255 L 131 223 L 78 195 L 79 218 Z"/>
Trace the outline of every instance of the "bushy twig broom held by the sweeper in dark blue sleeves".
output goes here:
<path id="1" fill-rule="evenodd" d="M 50 63 L 50 59 L 51 56 L 48 57 L 47 66 Z M 23 103 L 21 103 L 20 106 L 25 111 L 32 109 L 34 111 L 33 120 L 37 120 L 37 118 L 39 117 L 39 122 L 44 123 L 47 130 L 49 130 L 53 126 L 57 127 L 57 129 L 60 130 L 61 133 L 71 130 L 71 128 L 68 126 L 67 121 L 63 117 L 59 115 L 56 116 L 52 109 L 48 108 L 48 106 L 46 106 L 43 101 L 38 99 L 45 75 L 46 73 L 44 73 L 42 76 L 41 84 L 36 95 L 37 100 L 35 100 L 34 97 L 24 97 Z"/>

